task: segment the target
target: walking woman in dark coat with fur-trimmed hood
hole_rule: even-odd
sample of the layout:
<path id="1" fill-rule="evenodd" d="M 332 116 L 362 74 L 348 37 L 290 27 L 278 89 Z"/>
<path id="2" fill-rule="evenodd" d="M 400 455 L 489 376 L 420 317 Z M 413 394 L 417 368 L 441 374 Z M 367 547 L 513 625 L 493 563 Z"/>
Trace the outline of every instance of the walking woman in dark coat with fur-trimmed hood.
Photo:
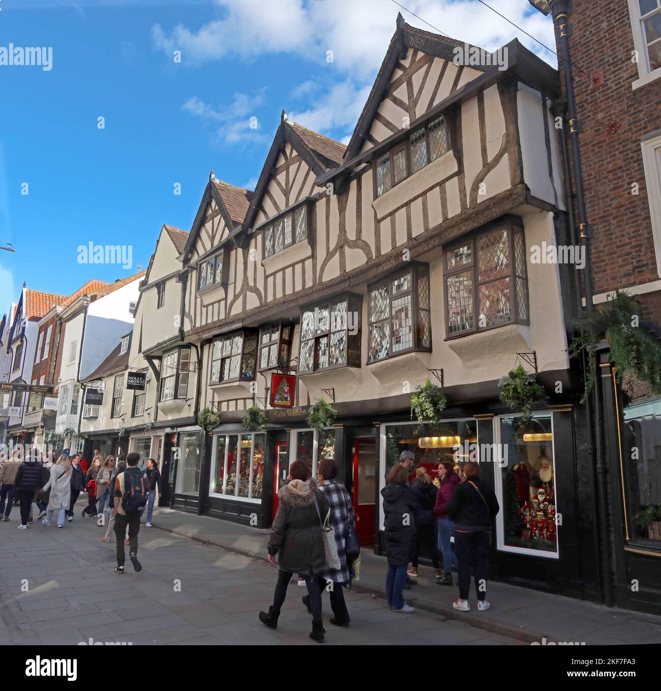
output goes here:
<path id="1" fill-rule="evenodd" d="M 259 618 L 271 629 L 278 626 L 287 586 L 291 576 L 298 573 L 299 578 L 305 580 L 309 607 L 312 609 L 312 632 L 309 635 L 314 641 L 321 642 L 325 630 L 317 576 L 326 567 L 321 521 L 329 511 L 329 504 L 314 477 L 310 477 L 310 469 L 305 461 L 294 461 L 289 473 L 291 481 L 278 492 L 280 502 L 267 546 L 271 564 L 275 565 L 278 554 L 278 581 L 273 605 L 268 612 L 260 612 Z"/>

